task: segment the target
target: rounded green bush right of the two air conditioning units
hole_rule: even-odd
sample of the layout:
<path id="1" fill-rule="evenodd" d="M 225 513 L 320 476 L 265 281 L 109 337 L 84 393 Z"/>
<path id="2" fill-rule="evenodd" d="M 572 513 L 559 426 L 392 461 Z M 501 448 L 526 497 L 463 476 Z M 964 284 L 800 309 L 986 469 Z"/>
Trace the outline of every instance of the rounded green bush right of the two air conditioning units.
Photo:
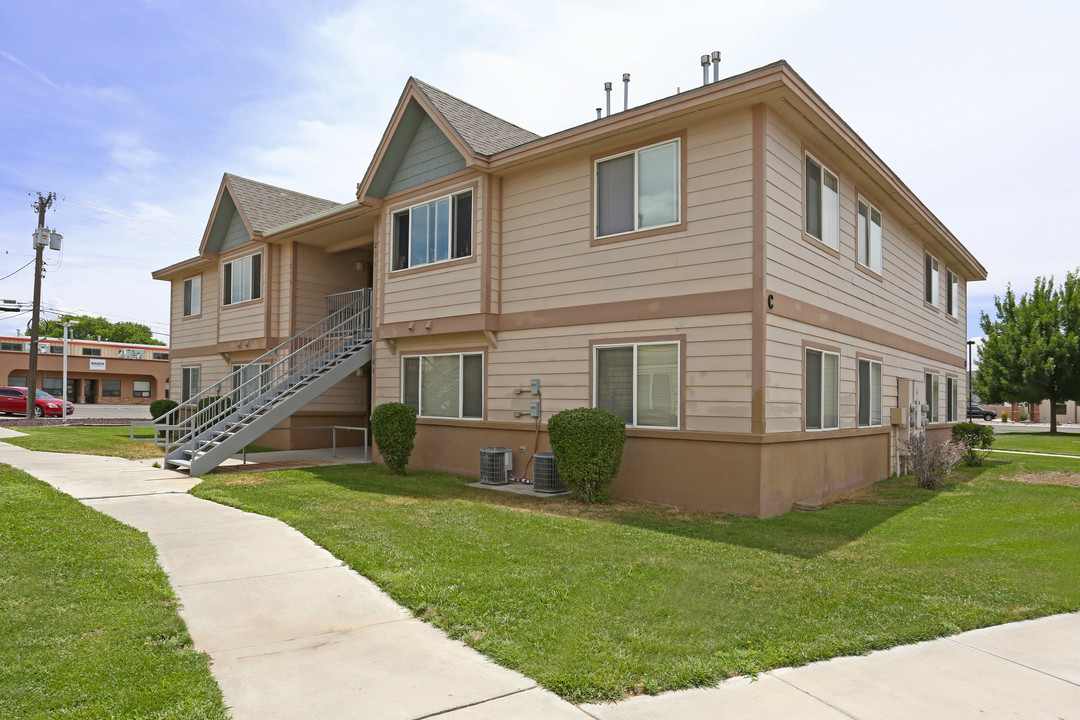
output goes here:
<path id="1" fill-rule="evenodd" d="M 599 408 L 572 408 L 548 421 L 548 436 L 563 481 L 583 502 L 605 502 L 622 464 L 626 423 Z"/>

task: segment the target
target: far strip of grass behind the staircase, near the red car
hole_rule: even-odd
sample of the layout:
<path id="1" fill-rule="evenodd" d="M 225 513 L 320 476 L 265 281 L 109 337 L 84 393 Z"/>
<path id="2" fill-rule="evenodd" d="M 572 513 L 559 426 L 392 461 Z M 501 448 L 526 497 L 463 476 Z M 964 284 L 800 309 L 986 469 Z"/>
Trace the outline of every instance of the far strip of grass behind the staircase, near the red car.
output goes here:
<path id="1" fill-rule="evenodd" d="M 127 425 L 41 425 L 37 427 L 16 427 L 26 437 L 5 437 L 5 443 L 17 445 L 27 450 L 43 450 L 45 452 L 75 452 L 79 454 L 113 456 L 130 460 L 162 458 L 164 451 L 149 440 L 132 441 L 131 429 Z M 152 437 L 153 430 L 149 426 L 135 429 L 135 437 Z M 247 453 L 274 452 L 273 448 L 258 445 L 247 446 Z"/>

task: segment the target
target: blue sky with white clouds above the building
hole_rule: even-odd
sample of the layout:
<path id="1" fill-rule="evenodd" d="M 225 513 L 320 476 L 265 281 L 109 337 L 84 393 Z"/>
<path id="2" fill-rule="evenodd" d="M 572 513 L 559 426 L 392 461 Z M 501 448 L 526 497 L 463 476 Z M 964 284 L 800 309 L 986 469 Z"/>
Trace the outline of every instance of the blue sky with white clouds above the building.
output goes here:
<path id="1" fill-rule="evenodd" d="M 750 5 L 761 6 L 750 6 Z M 903 12 L 899 9 L 903 6 Z M 1076 3 L 199 0 L 0 9 L 0 298 L 28 301 L 30 191 L 48 223 L 51 311 L 149 324 L 198 249 L 225 172 L 351 200 L 413 74 L 528 130 L 787 59 L 983 262 L 969 332 L 1007 283 L 1080 264 Z M 658 12 L 658 9 L 662 9 Z M 915 282 L 918 282 L 917 280 Z M 25 328 L 0 315 L 0 332 Z"/>

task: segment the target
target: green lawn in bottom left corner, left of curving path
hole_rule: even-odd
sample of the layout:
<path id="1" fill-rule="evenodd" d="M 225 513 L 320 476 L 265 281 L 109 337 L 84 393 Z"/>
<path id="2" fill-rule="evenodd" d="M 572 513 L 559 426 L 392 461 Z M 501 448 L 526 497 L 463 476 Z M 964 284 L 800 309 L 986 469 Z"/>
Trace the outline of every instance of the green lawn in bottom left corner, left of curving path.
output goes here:
<path id="1" fill-rule="evenodd" d="M 146 536 L 0 465 L 0 718 L 224 719 Z"/>

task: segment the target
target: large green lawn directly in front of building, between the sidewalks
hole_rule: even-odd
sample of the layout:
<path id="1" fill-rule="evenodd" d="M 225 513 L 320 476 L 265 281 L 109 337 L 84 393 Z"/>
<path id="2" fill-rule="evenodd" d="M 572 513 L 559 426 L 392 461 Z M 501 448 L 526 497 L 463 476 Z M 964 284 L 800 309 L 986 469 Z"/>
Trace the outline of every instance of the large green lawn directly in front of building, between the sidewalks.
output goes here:
<path id="1" fill-rule="evenodd" d="M 281 518 L 581 702 L 1078 610 L 1080 489 L 1002 479 L 1074 465 L 995 456 L 939 491 L 893 478 L 768 520 L 582 507 L 379 465 L 210 476 L 192 492 Z"/>

